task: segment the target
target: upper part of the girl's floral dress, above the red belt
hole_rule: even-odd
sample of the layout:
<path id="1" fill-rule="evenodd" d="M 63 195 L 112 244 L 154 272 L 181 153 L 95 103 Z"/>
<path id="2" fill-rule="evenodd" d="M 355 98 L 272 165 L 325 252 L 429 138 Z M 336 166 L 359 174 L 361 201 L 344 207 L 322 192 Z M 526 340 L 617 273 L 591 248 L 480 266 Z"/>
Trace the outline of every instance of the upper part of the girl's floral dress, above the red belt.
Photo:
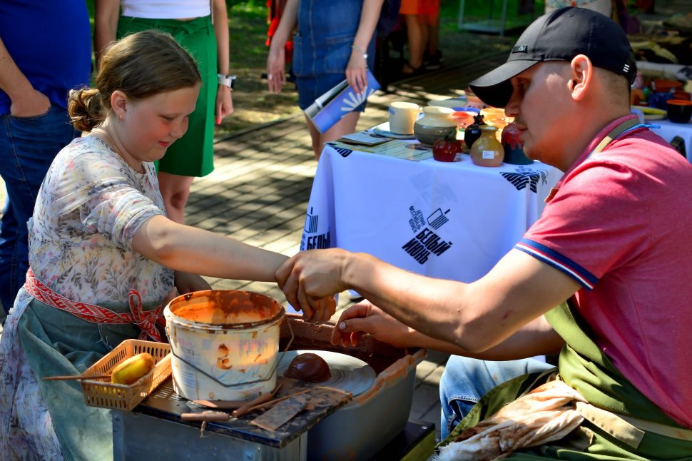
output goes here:
<path id="1" fill-rule="evenodd" d="M 127 303 L 133 288 L 156 305 L 173 288 L 173 270 L 132 249 L 145 221 L 164 214 L 153 163 L 138 173 L 101 138 L 77 138 L 46 173 L 29 220 L 29 265 L 71 300 Z"/>

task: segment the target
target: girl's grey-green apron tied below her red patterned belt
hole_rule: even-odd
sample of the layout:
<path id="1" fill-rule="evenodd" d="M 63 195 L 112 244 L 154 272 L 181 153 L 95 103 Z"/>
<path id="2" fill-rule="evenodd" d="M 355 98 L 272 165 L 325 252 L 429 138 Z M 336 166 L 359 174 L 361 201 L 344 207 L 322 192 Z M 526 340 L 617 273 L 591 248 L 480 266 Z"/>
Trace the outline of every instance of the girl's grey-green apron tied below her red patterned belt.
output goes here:
<path id="1" fill-rule="evenodd" d="M 129 312 L 126 304 L 104 307 Z M 66 460 L 113 459 L 111 410 L 86 406 L 76 381 L 43 378 L 80 375 L 123 340 L 136 339 L 139 333 L 140 329 L 132 324 L 89 323 L 36 298 L 19 318 L 22 352 L 34 370 Z"/>

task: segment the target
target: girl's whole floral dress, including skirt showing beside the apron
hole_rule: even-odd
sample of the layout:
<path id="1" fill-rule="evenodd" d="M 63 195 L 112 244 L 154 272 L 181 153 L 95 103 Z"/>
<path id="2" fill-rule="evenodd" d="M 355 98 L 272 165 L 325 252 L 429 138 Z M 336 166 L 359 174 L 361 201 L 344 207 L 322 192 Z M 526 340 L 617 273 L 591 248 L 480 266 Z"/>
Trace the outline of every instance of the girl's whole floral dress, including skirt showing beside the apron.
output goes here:
<path id="1" fill-rule="evenodd" d="M 58 153 L 29 220 L 29 264 L 41 282 L 66 298 L 106 308 L 124 308 L 130 288 L 147 308 L 171 292 L 173 270 L 132 249 L 139 226 L 164 214 L 153 163 L 144 168 L 137 173 L 96 136 L 75 139 Z M 0 340 L 0 460 L 57 461 L 63 459 L 60 442 L 28 360 L 42 358 L 42 350 L 24 350 L 20 340 L 31 299 L 19 290 Z M 64 412 L 81 415 L 79 399 L 66 397 Z"/>

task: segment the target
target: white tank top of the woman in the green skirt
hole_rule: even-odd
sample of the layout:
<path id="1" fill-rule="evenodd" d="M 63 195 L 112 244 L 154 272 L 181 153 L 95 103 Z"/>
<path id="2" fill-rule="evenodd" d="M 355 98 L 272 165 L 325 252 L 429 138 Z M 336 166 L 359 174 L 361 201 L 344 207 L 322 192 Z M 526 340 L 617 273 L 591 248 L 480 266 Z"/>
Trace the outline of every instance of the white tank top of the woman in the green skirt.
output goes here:
<path id="1" fill-rule="evenodd" d="M 209 16 L 210 0 L 121 0 L 123 16 L 145 19 L 188 19 Z"/>

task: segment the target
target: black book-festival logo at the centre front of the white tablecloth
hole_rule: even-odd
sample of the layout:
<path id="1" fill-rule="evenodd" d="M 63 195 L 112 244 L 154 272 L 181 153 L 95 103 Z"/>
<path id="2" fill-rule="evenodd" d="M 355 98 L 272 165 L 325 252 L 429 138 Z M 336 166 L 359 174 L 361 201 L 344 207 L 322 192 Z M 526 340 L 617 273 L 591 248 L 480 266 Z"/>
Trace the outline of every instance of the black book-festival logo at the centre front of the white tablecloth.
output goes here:
<path id="1" fill-rule="evenodd" d="M 424 219 L 423 213 L 413 206 L 409 207 L 409 211 L 411 212 L 409 226 L 416 233 L 414 238 L 402 246 L 402 250 L 409 256 L 414 258 L 419 264 L 424 264 L 427 263 L 430 256 L 442 255 L 442 253 L 452 247 L 451 241 L 443 240 L 433 231 L 433 229 L 437 231 L 437 229 L 449 221 L 449 218 L 447 218 L 449 210 L 442 213 L 442 209 L 437 208 L 427 217 L 427 220 Z"/>

